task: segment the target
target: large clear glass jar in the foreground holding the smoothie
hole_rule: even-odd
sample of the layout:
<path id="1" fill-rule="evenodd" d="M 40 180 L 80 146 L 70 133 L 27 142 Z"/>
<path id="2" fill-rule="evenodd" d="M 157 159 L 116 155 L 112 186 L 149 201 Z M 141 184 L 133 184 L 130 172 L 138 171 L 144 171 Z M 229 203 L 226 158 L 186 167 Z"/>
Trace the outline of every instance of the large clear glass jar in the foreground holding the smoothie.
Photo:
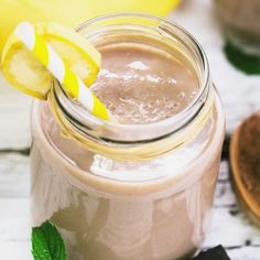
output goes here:
<path id="1" fill-rule="evenodd" d="M 77 31 L 97 47 L 177 48 L 199 90 L 167 119 L 120 124 L 89 115 L 54 83 L 48 102 L 32 111 L 33 224 L 54 223 L 68 259 L 192 256 L 208 228 L 225 133 L 204 51 L 182 28 L 148 14 L 105 15 Z"/>

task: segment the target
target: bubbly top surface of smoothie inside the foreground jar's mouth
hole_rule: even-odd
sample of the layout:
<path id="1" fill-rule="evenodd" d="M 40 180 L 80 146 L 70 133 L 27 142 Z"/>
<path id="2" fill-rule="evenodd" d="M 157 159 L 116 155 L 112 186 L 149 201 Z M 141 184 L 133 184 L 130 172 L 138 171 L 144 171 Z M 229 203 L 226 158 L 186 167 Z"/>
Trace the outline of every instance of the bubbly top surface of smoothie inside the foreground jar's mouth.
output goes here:
<path id="1" fill-rule="evenodd" d="M 91 87 L 121 123 L 150 123 L 183 110 L 198 90 L 191 65 L 162 50 L 133 43 L 99 48 L 101 71 Z"/>

